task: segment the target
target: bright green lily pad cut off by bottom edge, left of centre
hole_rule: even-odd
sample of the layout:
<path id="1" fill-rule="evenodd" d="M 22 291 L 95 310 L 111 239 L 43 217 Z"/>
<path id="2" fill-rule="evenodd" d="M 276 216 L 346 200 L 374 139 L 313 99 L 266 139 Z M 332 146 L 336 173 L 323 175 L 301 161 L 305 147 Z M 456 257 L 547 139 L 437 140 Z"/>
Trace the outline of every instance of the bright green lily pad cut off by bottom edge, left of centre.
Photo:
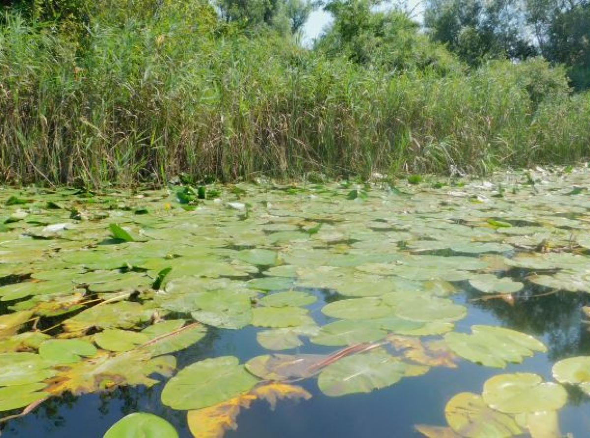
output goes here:
<path id="1" fill-rule="evenodd" d="M 178 433 L 154 414 L 135 412 L 113 424 L 103 438 L 178 438 Z"/>

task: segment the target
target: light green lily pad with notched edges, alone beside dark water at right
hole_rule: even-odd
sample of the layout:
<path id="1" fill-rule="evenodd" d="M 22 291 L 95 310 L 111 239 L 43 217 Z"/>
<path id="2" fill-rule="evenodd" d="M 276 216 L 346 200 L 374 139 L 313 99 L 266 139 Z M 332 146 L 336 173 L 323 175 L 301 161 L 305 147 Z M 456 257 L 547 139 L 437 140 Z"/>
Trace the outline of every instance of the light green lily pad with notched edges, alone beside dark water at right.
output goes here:
<path id="1" fill-rule="evenodd" d="M 487 367 L 503 368 L 507 362 L 520 363 L 535 351 L 547 351 L 532 336 L 501 327 L 473 325 L 472 334 L 451 332 L 444 337 L 461 357 Z"/>

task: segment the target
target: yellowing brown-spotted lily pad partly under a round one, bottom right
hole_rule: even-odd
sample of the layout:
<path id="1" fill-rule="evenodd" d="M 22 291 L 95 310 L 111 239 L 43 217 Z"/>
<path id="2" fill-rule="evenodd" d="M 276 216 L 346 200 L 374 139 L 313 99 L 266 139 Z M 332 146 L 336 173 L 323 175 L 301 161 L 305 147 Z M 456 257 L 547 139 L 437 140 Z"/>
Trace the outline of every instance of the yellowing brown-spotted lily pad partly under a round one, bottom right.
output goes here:
<path id="1" fill-rule="evenodd" d="M 445 417 L 463 437 L 508 438 L 522 432 L 512 416 L 491 409 L 478 394 L 454 396 L 445 407 Z"/>

